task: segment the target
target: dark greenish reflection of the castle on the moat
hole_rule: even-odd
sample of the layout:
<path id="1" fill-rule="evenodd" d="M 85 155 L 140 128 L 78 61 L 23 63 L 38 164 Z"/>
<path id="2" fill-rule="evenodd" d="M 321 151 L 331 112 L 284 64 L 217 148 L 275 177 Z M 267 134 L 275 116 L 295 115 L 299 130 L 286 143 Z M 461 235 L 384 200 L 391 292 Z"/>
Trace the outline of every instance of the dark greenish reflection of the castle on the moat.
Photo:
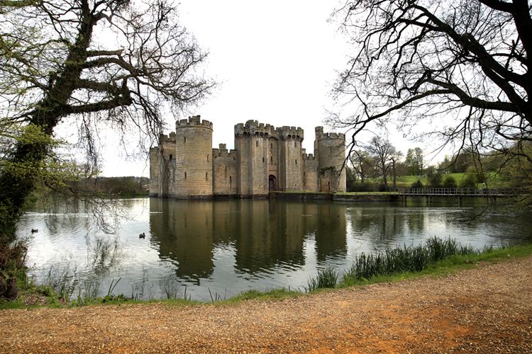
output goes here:
<path id="1" fill-rule="evenodd" d="M 197 280 L 214 271 L 214 249 L 232 249 L 235 271 L 304 265 L 304 241 L 316 258 L 346 252 L 345 207 L 332 202 L 276 200 L 175 201 L 150 199 L 150 232 L 160 257 L 177 263 L 177 276 Z"/>

